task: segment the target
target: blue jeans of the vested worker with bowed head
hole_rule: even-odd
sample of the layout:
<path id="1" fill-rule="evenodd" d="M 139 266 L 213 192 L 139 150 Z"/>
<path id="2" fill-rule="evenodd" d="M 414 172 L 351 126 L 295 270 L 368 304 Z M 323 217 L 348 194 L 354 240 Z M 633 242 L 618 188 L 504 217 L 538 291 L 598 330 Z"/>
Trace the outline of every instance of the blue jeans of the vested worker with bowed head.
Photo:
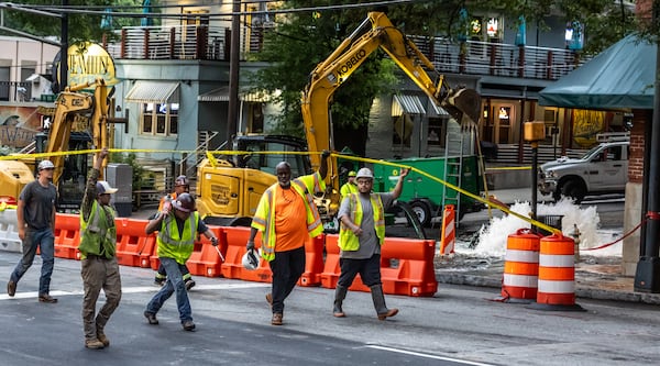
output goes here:
<path id="1" fill-rule="evenodd" d="M 172 293 L 176 292 L 176 307 L 178 308 L 182 323 L 187 320 L 193 320 L 190 300 L 188 299 L 188 291 L 186 291 L 186 285 L 184 284 L 179 264 L 173 258 L 161 258 L 161 264 L 167 274 L 167 282 L 165 282 L 165 286 L 163 286 L 158 293 L 156 293 L 146 304 L 146 311 L 156 314 L 165 301 L 169 299 Z"/>

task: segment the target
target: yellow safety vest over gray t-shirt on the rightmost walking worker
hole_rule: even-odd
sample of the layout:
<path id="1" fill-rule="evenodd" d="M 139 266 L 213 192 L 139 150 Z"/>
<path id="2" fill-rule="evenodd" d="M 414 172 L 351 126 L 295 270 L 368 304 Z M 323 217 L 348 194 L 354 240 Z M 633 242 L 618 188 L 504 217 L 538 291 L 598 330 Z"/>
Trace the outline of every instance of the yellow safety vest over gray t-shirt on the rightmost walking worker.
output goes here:
<path id="1" fill-rule="evenodd" d="M 351 221 L 360 226 L 362 224 L 362 203 L 358 199 L 359 193 L 349 195 L 349 218 Z M 385 215 L 383 212 L 383 200 L 381 196 L 372 193 L 370 196 L 372 202 L 372 210 L 374 211 L 374 224 L 376 230 L 376 236 L 378 237 L 378 244 L 383 245 L 385 241 Z M 364 229 L 369 230 L 369 229 Z M 341 223 L 339 231 L 339 248 L 344 252 L 354 252 L 360 249 L 360 239 L 353 233 L 349 226 Z"/>

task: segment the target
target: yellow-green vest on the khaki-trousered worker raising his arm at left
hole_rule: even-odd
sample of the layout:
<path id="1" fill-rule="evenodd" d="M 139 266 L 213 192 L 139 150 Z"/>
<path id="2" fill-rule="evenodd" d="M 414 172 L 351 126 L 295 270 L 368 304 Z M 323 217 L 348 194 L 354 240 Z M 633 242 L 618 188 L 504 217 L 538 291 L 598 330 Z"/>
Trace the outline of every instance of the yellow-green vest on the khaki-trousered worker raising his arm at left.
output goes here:
<path id="1" fill-rule="evenodd" d="M 114 226 L 114 210 L 105 210 L 97 200 L 91 203 L 88 221 L 85 221 L 80 212 L 80 244 L 78 251 L 84 257 L 88 254 L 106 258 L 114 257 L 117 252 L 117 228 Z M 109 217 L 108 217 L 109 215 Z"/>

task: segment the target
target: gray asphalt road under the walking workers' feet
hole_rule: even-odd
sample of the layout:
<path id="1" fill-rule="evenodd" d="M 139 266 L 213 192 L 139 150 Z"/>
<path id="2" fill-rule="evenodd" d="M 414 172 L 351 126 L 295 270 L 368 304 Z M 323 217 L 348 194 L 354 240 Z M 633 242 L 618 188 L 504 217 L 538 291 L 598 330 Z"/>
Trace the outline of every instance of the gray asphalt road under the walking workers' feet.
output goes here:
<path id="1" fill-rule="evenodd" d="M 19 254 L 0 252 L 0 286 Z M 170 299 L 160 325 L 142 315 L 154 271 L 121 267 L 123 298 L 106 333 L 84 347 L 80 263 L 56 259 L 52 295 L 36 301 L 41 260 L 0 295 L 2 365 L 640 365 L 660 364 L 657 306 L 580 300 L 584 311 L 541 311 L 497 301 L 499 289 L 441 284 L 430 298 L 387 296 L 397 317 L 378 321 L 371 296 L 351 291 L 348 318 L 331 315 L 333 290 L 298 287 L 283 326 L 270 325 L 270 285 L 196 276 L 196 332 L 185 332 Z M 3 287 L 4 288 L 4 287 Z"/>

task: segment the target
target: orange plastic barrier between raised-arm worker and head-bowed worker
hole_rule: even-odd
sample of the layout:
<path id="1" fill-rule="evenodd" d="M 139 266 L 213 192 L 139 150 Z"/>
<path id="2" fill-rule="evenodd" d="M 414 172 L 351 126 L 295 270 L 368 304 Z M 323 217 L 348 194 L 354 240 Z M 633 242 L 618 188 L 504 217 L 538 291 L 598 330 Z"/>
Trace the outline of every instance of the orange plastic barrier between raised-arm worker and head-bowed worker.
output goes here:
<path id="1" fill-rule="evenodd" d="M 117 262 L 123 266 L 144 267 L 152 255 L 155 236 L 147 235 L 148 221 L 117 218 Z M 146 253 L 145 253 L 146 252 Z"/>

